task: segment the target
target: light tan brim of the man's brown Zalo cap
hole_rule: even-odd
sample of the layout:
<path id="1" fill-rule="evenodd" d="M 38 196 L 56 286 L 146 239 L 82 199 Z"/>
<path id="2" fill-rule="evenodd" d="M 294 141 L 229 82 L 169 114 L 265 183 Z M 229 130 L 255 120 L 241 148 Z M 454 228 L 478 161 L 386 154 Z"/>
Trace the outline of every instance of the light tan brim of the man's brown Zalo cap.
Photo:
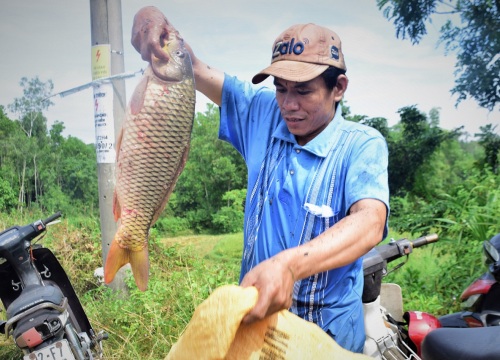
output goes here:
<path id="1" fill-rule="evenodd" d="M 299 61 L 281 60 L 259 72 L 252 78 L 252 83 L 258 84 L 269 75 L 288 81 L 304 82 L 321 75 L 328 65 L 311 64 Z"/>

